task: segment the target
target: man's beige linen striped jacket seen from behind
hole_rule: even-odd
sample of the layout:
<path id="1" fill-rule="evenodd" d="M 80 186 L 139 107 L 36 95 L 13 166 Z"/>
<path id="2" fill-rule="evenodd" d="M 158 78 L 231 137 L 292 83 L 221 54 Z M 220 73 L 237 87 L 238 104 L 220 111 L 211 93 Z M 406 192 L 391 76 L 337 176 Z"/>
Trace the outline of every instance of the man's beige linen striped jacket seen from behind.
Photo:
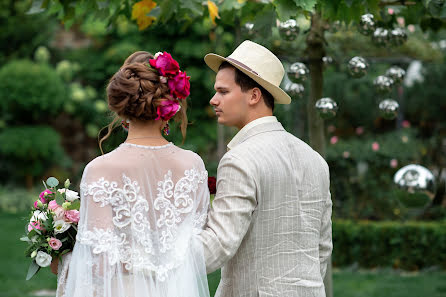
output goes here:
<path id="1" fill-rule="evenodd" d="M 228 145 L 204 231 L 207 272 L 222 267 L 216 297 L 323 297 L 332 251 L 329 170 L 275 117 Z"/>

